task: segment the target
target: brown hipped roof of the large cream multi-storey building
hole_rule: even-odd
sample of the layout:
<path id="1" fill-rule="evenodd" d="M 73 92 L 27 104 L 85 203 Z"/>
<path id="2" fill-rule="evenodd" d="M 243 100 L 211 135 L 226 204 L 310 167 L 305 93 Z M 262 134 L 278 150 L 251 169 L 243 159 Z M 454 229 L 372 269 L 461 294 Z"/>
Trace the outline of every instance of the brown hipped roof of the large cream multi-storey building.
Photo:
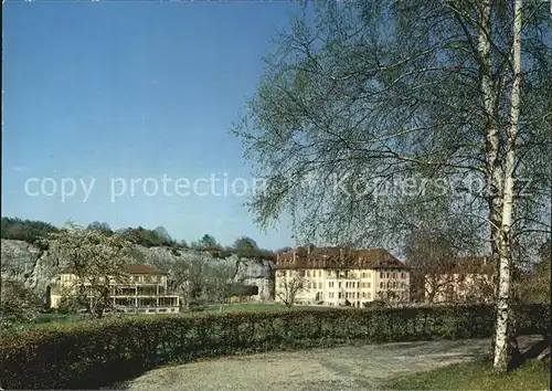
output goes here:
<path id="1" fill-rule="evenodd" d="M 298 247 L 278 254 L 276 268 L 408 268 L 383 249 Z"/>

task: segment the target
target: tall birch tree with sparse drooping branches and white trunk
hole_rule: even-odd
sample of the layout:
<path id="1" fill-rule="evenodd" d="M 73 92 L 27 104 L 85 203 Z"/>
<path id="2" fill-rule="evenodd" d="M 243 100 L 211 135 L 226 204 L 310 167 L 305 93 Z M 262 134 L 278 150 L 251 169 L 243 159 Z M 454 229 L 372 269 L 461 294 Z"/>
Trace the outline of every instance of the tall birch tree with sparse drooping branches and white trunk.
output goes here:
<path id="1" fill-rule="evenodd" d="M 498 370 L 510 245 L 550 236 L 549 11 L 527 0 L 309 2 L 276 36 L 233 128 L 265 179 L 248 203 L 262 228 L 289 214 L 302 242 L 391 247 L 439 216 L 461 221 L 458 236 L 476 240 L 460 252 L 500 260 Z"/>

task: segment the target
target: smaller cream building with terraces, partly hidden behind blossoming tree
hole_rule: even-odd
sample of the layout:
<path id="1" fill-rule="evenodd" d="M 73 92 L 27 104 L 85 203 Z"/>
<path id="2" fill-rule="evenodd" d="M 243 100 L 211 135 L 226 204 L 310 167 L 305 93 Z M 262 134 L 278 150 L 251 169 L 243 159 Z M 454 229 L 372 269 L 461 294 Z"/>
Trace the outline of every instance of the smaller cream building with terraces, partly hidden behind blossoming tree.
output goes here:
<path id="1" fill-rule="evenodd" d="M 127 265 L 125 281 L 109 283 L 109 299 L 116 311 L 130 314 L 167 314 L 180 310 L 180 299 L 167 289 L 167 274 L 148 265 Z M 92 297 L 92 284 L 81 282 L 75 274 L 62 273 L 52 287 L 50 303 L 57 308 L 63 297 L 76 296 L 84 286 L 85 295 Z"/>

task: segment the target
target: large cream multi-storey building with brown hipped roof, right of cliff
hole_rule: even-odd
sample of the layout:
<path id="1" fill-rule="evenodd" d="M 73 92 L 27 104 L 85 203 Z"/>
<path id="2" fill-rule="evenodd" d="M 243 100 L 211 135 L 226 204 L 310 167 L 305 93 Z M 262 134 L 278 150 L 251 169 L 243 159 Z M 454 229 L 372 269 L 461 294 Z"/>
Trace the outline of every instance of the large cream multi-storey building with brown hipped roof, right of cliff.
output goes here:
<path id="1" fill-rule="evenodd" d="M 389 252 L 298 247 L 276 258 L 275 298 L 299 305 L 364 307 L 408 302 L 408 267 Z"/>

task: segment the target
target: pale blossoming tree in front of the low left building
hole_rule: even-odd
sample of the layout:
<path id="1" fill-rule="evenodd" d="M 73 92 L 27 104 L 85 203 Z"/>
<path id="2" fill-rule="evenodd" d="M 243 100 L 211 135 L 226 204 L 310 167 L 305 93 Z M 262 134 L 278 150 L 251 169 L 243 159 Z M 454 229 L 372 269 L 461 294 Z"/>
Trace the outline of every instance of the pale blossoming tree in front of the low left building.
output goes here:
<path id="1" fill-rule="evenodd" d="M 106 236 L 102 231 L 73 223 L 51 234 L 49 241 L 53 256 L 66 266 L 67 273 L 76 276 L 63 294 L 84 296 L 88 313 L 103 317 L 104 311 L 113 307 L 112 288 L 128 282 L 125 266 L 131 261 L 130 243 L 118 234 Z"/>

